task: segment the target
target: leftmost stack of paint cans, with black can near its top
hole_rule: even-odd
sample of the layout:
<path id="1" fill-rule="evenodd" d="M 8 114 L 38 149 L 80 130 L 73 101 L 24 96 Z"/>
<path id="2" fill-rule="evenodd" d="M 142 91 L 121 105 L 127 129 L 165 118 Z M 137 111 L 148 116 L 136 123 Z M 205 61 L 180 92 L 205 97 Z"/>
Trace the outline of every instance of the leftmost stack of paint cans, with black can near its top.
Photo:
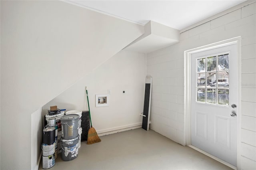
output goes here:
<path id="1" fill-rule="evenodd" d="M 56 119 L 50 119 L 49 124 L 43 130 L 43 160 L 42 160 L 42 168 L 48 169 L 54 166 L 55 164 L 55 150 L 56 150 Z"/>

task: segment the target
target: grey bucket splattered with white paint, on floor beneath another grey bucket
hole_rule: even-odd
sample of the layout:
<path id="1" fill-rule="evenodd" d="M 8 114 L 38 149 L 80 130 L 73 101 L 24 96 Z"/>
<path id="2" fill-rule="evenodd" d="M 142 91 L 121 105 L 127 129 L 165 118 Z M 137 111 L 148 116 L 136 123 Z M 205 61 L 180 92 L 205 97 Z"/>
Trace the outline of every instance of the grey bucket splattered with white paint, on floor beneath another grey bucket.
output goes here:
<path id="1" fill-rule="evenodd" d="M 70 161 L 78 156 L 79 136 L 71 140 L 61 139 L 61 158 L 64 161 Z"/>

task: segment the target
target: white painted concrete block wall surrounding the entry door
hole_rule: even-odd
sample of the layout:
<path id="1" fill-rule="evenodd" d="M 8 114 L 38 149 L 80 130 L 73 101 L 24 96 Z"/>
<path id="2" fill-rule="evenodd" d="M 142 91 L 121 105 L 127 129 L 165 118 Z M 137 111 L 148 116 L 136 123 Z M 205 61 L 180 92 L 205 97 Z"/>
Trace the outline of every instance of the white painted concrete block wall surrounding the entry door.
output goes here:
<path id="1" fill-rule="evenodd" d="M 256 168 L 256 2 L 180 34 L 180 42 L 147 54 L 153 77 L 150 128 L 185 145 L 184 51 L 242 36 L 241 162 Z"/>

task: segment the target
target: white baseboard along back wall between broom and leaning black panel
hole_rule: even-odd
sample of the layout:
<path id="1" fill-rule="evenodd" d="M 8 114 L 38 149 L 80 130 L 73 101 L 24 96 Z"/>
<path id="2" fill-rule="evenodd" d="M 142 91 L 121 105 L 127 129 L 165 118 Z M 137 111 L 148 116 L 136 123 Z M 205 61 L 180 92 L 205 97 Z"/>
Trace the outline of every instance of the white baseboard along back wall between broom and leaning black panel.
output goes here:
<path id="1" fill-rule="evenodd" d="M 141 128 L 141 127 L 142 127 L 142 123 L 134 123 L 134 124 L 131 124 L 131 125 L 125 125 L 125 126 L 120 126 L 120 127 L 98 130 L 97 134 L 98 134 L 98 136 L 105 136 L 105 135 L 108 135 L 108 134 L 124 132 L 126 130 L 132 130 L 132 129 Z"/>

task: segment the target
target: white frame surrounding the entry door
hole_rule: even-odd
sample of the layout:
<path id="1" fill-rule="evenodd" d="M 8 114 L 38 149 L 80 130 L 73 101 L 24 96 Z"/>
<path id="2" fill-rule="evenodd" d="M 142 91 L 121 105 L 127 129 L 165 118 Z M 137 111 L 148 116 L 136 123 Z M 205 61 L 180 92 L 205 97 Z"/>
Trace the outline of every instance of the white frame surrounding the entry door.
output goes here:
<path id="1" fill-rule="evenodd" d="M 185 124 L 184 124 L 184 128 L 185 128 L 185 141 L 186 141 L 186 146 L 190 146 L 191 148 L 194 148 L 196 150 L 198 150 L 199 152 L 202 152 L 203 154 L 206 154 L 207 156 L 210 156 L 211 158 L 229 166 L 230 168 L 233 169 L 241 169 L 241 162 L 240 162 L 240 155 L 241 155 L 241 147 L 240 147 L 240 143 L 241 143 L 241 37 L 236 37 L 236 38 L 231 38 L 228 40 L 224 40 L 221 42 L 217 42 L 217 43 L 212 43 L 209 45 L 205 45 L 202 47 L 198 47 L 198 48 L 194 48 L 194 49 L 189 49 L 184 51 L 184 85 L 185 85 L 185 91 L 184 91 L 184 116 L 185 116 Z M 226 45 L 231 45 L 231 44 L 236 44 L 237 45 L 237 49 L 238 49 L 238 107 L 237 107 L 237 119 L 238 119 L 238 126 L 237 126 L 237 167 L 228 164 L 227 162 L 220 160 L 219 158 L 216 158 L 215 156 L 212 156 L 194 146 L 191 145 L 191 128 L 190 128 L 190 105 L 191 105 L 191 101 L 190 101 L 190 97 L 191 97 L 191 80 L 190 80 L 190 64 L 191 64 L 191 54 L 192 53 L 197 53 L 200 51 L 205 51 L 208 49 L 214 49 L 217 47 L 223 47 Z"/>

